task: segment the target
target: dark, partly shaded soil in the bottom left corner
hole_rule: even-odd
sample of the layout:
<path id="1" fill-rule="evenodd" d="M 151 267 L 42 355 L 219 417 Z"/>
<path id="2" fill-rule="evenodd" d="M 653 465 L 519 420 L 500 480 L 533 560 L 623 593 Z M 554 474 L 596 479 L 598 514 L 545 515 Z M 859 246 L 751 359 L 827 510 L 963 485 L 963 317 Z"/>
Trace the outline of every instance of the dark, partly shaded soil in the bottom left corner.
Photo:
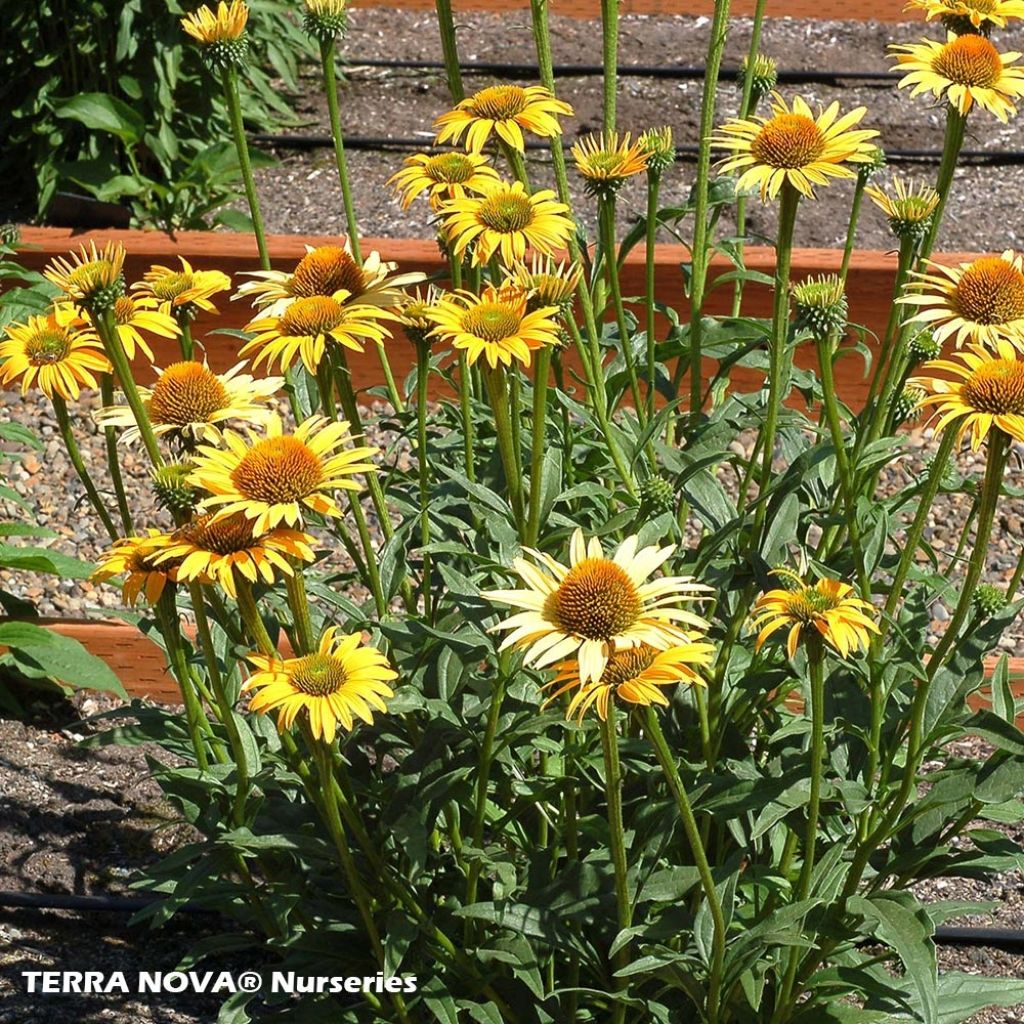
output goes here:
<path id="1" fill-rule="evenodd" d="M 156 748 L 85 750 L 81 719 L 114 698 L 18 691 L 24 718 L 0 717 L 0 890 L 126 895 L 133 876 L 186 838 L 150 777 Z M 208 931 L 206 919 L 152 931 L 123 912 L 14 909 L 0 898 L 0 1024 L 209 1024 L 220 998 L 30 994 L 26 971 L 173 971 Z M 236 965 L 211 962 L 211 970 Z"/>

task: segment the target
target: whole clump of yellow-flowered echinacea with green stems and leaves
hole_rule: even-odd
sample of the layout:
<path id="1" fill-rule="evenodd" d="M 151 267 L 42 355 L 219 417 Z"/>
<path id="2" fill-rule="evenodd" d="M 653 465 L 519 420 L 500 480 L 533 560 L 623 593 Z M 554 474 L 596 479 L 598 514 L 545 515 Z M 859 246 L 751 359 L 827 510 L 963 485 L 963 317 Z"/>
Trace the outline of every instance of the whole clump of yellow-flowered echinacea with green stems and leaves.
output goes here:
<path id="1" fill-rule="evenodd" d="M 137 718 L 112 738 L 163 749 L 155 775 L 191 829 L 139 885 L 164 919 L 230 919 L 231 948 L 366 980 L 309 988 L 296 1020 L 955 1024 L 1024 1001 L 1020 982 L 938 970 L 936 923 L 984 908 L 913 888 L 1024 856 L 1016 833 L 971 825 L 1024 820 L 1005 660 L 992 709 L 968 702 L 1024 604 L 1024 557 L 986 579 L 1024 442 L 1024 266 L 1009 248 L 935 252 L 967 202 L 969 119 L 1006 121 L 1024 95 L 1019 55 L 990 38 L 1024 4 L 911 0 L 942 32 L 894 48 L 897 94 L 945 114 L 940 171 L 914 181 L 881 173 L 869 111 L 779 91 L 760 29 L 739 88 L 720 88 L 717 4 L 681 208 L 660 202 L 672 130 L 616 123 L 602 7 L 601 124 L 563 150 L 547 4 L 530 5 L 541 80 L 466 95 L 438 2 L 451 104 L 381 181 L 432 217 L 445 267 L 429 278 L 359 234 L 344 0 L 299 13 L 347 233 L 273 267 L 239 99 L 258 8 L 186 14 L 259 262 L 240 280 L 183 257 L 137 273 L 88 243 L 47 268 L 49 307 L 5 329 L 0 381 L 52 403 L 110 536 L 93 580 L 120 584 L 180 688 L 182 714 L 109 716 Z M 551 160 L 527 173 L 537 145 Z M 824 188 L 849 197 L 845 249 L 796 273 L 799 211 Z M 898 246 L 870 346 L 851 287 L 865 196 Z M 767 317 L 743 263 L 757 202 L 778 212 Z M 692 231 L 686 310 L 656 288 L 669 230 Z M 639 296 L 623 279 L 637 245 Z M 717 246 L 735 264 L 721 282 Z M 729 315 L 706 303 L 716 285 Z M 220 365 L 205 335 L 228 296 L 249 308 Z M 868 347 L 855 403 L 837 368 Z M 78 449 L 93 423 L 105 465 Z M 881 467 L 920 456 L 904 423 L 937 451 L 892 494 Z M 966 446 L 980 477 L 958 471 Z M 124 469 L 140 460 L 136 507 Z M 926 531 L 953 521 L 953 493 L 969 511 L 947 557 Z M 971 734 L 994 753 L 951 749 Z M 255 999 L 225 1013 L 262 1019 Z"/>

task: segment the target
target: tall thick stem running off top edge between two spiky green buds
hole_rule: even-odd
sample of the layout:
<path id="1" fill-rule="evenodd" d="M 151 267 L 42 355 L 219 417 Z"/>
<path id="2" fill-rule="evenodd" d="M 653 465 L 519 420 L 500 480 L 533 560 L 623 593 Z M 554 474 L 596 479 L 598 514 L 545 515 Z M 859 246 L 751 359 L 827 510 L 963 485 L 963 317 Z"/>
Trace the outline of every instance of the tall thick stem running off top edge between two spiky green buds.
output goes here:
<path id="1" fill-rule="evenodd" d="M 718 77 L 722 67 L 722 52 L 729 34 L 729 0 L 715 0 L 715 14 L 711 23 L 711 39 L 705 61 L 703 95 L 700 100 L 700 131 L 698 134 L 696 177 L 693 182 L 693 249 L 690 278 L 690 423 L 700 416 L 701 387 L 703 384 L 703 302 L 711 265 L 708 245 L 708 208 L 711 185 L 711 134 L 715 127 L 715 109 L 718 98 Z"/>

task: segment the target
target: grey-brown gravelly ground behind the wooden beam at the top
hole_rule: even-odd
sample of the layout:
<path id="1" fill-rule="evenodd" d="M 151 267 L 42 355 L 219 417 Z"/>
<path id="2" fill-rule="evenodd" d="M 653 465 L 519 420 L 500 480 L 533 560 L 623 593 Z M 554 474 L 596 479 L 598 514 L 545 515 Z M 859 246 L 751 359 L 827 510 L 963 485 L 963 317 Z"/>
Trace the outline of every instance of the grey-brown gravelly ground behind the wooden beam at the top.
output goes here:
<path id="1" fill-rule="evenodd" d="M 534 62 L 535 55 L 528 13 L 463 14 L 459 17 L 460 46 L 464 62 Z M 746 52 L 750 22 L 737 19 L 730 35 L 725 66 L 736 67 Z M 886 46 L 891 42 L 912 42 L 922 36 L 937 37 L 934 28 L 920 25 L 857 24 L 847 22 L 806 22 L 771 18 L 765 24 L 762 50 L 776 57 L 782 70 L 828 70 L 884 72 L 892 61 Z M 702 65 L 707 47 L 706 18 L 627 16 L 622 19 L 622 65 Z M 552 19 L 552 40 L 556 63 L 593 63 L 599 60 L 600 30 L 596 23 L 572 18 Z M 1024 29 L 998 34 L 1002 49 L 1024 49 Z M 433 16 L 422 12 L 354 10 L 343 51 L 353 61 L 348 86 L 343 94 L 342 118 L 350 136 L 432 139 L 433 119 L 451 105 L 443 76 L 436 72 L 396 71 L 360 67 L 364 59 L 439 60 L 440 45 Z M 472 90 L 493 84 L 484 76 L 467 79 Z M 327 106 L 315 75 L 303 81 L 298 110 L 307 124 L 298 133 L 323 134 L 328 129 Z M 568 143 L 601 124 L 599 78 L 563 78 L 559 94 L 572 103 L 575 117 L 564 123 Z M 617 123 L 621 130 L 634 133 L 669 124 L 677 142 L 693 144 L 698 134 L 702 83 L 699 80 L 673 81 L 624 77 L 618 95 Z M 939 150 L 942 145 L 942 110 L 926 97 L 910 99 L 891 83 L 847 82 L 841 86 L 786 85 L 786 95 L 799 91 L 812 103 L 839 100 L 844 109 L 868 108 L 865 126 L 877 128 L 883 145 L 890 150 Z M 721 90 L 719 120 L 735 113 L 738 90 L 725 85 Z M 386 115 L 382 117 L 382 112 Z M 1021 121 L 1002 125 L 983 112 L 972 116 L 968 150 L 1020 150 Z M 360 229 L 370 236 L 429 238 L 433 233 L 425 203 L 416 203 L 402 212 L 393 194 L 385 186 L 408 155 L 406 152 L 350 151 L 351 178 Z M 330 150 L 296 152 L 279 150 L 280 166 L 258 174 L 258 186 L 268 229 L 286 233 L 332 233 L 344 230 L 341 191 Z M 535 185 L 552 183 L 550 165 L 538 156 L 529 161 Z M 895 165 L 894 165 L 895 166 Z M 901 164 L 896 169 L 921 180 L 934 177 L 935 164 Z M 571 176 L 571 175 L 570 175 Z M 680 163 L 666 175 L 663 202 L 685 200 L 693 180 L 692 163 Z M 885 177 L 882 180 L 886 180 Z M 574 184 L 574 181 L 573 181 Z M 797 226 L 797 244 L 807 247 L 842 246 L 846 237 L 851 185 L 846 182 L 820 190 L 814 203 L 804 203 Z M 953 196 L 943 224 L 940 245 L 946 251 L 1001 250 L 1016 247 L 1021 221 L 1018 196 L 1024 187 L 1024 167 L 965 166 L 957 172 Z M 972 203 L 973 197 L 983 202 Z M 645 202 L 642 185 L 634 183 L 621 194 L 622 223 L 638 213 Z M 590 221 L 593 202 L 577 188 L 574 208 Z M 749 229 L 771 238 L 774 233 L 774 206 L 750 204 Z M 689 226 L 684 225 L 689 232 Z M 722 230 L 731 231 L 723 221 Z M 663 241 L 672 241 L 666 233 Z M 881 211 L 865 203 L 857 243 L 867 249 L 890 249 L 892 238 Z"/>

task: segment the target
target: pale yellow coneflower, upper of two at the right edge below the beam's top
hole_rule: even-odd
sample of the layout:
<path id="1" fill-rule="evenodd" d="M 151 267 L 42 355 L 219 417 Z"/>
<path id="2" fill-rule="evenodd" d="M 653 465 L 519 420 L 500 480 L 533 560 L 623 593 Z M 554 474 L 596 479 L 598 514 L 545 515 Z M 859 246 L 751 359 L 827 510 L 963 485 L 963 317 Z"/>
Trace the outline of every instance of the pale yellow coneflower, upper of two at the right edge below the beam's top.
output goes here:
<path id="1" fill-rule="evenodd" d="M 1024 346 L 1024 256 L 1008 249 L 958 266 L 928 266 L 932 272 L 913 273 L 913 294 L 897 300 L 923 307 L 910 323 L 927 324 L 940 343 L 955 338 L 957 347 L 998 338 Z"/>

